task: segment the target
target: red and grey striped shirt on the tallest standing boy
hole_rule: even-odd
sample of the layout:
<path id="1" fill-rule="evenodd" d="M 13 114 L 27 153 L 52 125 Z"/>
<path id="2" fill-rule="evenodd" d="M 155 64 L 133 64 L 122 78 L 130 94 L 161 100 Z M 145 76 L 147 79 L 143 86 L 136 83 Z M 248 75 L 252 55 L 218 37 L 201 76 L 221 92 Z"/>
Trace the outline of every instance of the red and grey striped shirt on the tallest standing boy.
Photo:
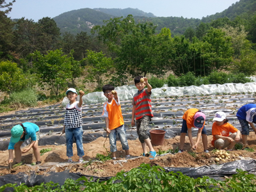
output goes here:
<path id="1" fill-rule="evenodd" d="M 141 90 L 138 91 L 133 96 L 132 99 L 132 105 L 136 106 L 135 108 L 135 117 L 136 120 L 142 118 L 143 116 L 154 116 L 152 112 L 152 106 L 151 106 L 151 98 L 150 98 L 151 92 L 148 93 L 148 90 Z"/>

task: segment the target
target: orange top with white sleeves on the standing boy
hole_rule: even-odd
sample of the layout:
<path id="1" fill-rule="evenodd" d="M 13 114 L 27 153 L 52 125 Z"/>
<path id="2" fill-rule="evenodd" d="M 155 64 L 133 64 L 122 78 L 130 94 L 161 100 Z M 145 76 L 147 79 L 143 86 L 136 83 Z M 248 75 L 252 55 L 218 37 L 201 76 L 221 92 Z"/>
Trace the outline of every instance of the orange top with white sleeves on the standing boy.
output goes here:
<path id="1" fill-rule="evenodd" d="M 116 102 L 114 98 L 111 103 L 109 103 L 108 101 L 104 103 L 102 116 L 108 116 L 110 130 L 116 129 L 121 125 L 124 125 L 124 118 L 122 115 L 120 103 Z"/>

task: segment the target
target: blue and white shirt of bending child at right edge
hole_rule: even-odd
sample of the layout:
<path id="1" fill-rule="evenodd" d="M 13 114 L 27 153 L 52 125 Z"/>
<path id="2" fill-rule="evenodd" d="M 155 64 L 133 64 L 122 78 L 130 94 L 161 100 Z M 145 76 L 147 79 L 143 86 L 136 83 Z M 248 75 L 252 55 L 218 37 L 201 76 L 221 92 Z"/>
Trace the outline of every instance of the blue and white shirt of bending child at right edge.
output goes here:
<path id="1" fill-rule="evenodd" d="M 247 122 L 256 122 L 256 104 L 246 104 L 241 107 L 236 116 L 239 120 L 246 120 Z"/>

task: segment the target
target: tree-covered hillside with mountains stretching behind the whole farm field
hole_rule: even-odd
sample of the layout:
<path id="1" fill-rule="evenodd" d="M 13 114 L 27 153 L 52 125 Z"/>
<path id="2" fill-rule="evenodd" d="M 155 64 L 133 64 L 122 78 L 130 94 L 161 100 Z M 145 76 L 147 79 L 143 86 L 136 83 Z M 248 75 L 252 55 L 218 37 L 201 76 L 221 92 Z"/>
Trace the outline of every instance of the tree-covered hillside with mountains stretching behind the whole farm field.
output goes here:
<path id="1" fill-rule="evenodd" d="M 253 7 L 252 0 L 239 2 L 242 15 L 211 22 L 113 17 L 92 9 L 34 22 L 10 19 L 15 1 L 0 1 L 6 8 L 0 11 L 0 112 L 62 98 L 68 87 L 101 91 L 103 84 L 129 84 L 138 75 L 152 77 L 154 87 L 250 81 L 256 15 L 246 2 Z"/>

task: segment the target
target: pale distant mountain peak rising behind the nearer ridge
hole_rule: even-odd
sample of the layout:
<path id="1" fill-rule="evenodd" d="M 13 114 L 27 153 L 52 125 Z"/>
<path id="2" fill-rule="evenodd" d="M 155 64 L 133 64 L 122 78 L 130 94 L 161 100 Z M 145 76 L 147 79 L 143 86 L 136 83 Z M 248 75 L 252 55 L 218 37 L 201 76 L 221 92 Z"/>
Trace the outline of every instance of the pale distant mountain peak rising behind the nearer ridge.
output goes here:
<path id="1" fill-rule="evenodd" d="M 141 10 L 138 10 L 137 8 L 126 8 L 126 9 L 118 9 L 118 8 L 94 8 L 93 10 L 107 13 L 109 15 L 113 15 L 115 17 L 127 17 L 127 15 L 133 15 L 133 16 L 141 16 L 141 17 L 156 17 L 153 13 L 145 13 Z"/>

